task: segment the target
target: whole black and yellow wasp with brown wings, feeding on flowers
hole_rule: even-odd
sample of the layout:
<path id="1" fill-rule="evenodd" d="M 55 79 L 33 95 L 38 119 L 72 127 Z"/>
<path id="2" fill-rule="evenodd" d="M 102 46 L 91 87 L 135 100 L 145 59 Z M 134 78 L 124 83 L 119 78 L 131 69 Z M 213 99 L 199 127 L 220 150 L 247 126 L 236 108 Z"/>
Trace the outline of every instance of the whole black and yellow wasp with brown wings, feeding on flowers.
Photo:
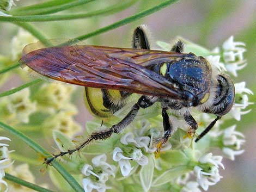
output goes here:
<path id="1" fill-rule="evenodd" d="M 135 119 L 140 108 L 156 102 L 161 103 L 163 117 L 163 136 L 157 139 L 158 149 L 173 133 L 168 110 L 184 117 L 191 138 L 198 128 L 191 109 L 216 115 L 195 141 L 202 138 L 233 106 L 234 84 L 228 75 L 217 73 L 205 58 L 183 51 L 182 41 L 176 42 L 170 51 L 151 50 L 147 32 L 139 26 L 133 32 L 132 48 L 73 45 L 23 54 L 19 62 L 40 75 L 84 86 L 87 106 L 96 116 L 107 117 L 123 108 L 127 97 L 141 94 L 119 123 L 92 133 L 72 150 L 53 154 L 45 163 L 79 151 L 93 140 L 120 133 Z"/>

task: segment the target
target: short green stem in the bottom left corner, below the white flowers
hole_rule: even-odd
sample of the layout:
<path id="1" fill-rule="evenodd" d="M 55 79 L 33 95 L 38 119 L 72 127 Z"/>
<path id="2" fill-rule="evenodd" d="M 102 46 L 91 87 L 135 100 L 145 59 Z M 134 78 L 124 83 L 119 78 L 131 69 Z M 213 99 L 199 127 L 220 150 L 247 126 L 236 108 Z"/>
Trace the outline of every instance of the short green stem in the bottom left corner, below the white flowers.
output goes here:
<path id="1" fill-rule="evenodd" d="M 42 188 L 38 185 L 35 185 L 33 183 L 29 183 L 27 181 L 24 181 L 23 179 L 20 179 L 18 177 L 10 175 L 10 174 L 5 174 L 4 179 L 7 179 L 8 181 L 20 184 L 20 185 L 25 186 L 29 189 L 33 189 L 33 190 L 36 190 L 36 191 L 39 191 L 39 192 L 53 192 L 52 190 Z"/>

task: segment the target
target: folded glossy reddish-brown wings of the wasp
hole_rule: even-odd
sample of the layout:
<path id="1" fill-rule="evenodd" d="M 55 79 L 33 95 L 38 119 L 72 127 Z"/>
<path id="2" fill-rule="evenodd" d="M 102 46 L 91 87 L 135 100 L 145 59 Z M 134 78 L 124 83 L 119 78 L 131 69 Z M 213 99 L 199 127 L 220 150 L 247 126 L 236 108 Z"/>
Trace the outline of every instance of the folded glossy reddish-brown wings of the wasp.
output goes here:
<path id="1" fill-rule="evenodd" d="M 155 59 L 181 56 L 144 49 L 64 46 L 29 52 L 19 62 L 66 83 L 179 99 L 180 90 L 145 66 Z"/>

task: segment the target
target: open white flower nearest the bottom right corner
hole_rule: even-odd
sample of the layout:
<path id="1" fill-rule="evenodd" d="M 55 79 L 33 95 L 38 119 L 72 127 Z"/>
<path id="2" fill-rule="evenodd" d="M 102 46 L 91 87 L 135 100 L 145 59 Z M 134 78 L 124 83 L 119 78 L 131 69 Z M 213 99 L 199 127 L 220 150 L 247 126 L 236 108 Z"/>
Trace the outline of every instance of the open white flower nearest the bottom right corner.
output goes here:
<path id="1" fill-rule="evenodd" d="M 204 172 L 200 166 L 194 167 L 194 175 L 197 177 L 197 182 L 205 191 L 208 190 L 210 185 L 215 185 L 222 178 L 216 166 L 210 166 L 209 169 L 207 170 L 208 172 Z"/>

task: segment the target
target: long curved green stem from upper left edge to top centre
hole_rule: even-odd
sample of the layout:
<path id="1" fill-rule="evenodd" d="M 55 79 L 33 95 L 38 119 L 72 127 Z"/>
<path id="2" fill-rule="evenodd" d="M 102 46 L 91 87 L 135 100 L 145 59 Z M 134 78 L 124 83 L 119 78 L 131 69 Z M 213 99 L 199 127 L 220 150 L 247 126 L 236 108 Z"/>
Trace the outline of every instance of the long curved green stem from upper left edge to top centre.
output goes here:
<path id="1" fill-rule="evenodd" d="M 75 20 L 78 18 L 89 18 L 98 15 L 108 15 L 116 13 L 117 11 L 126 9 L 135 4 L 137 0 L 132 0 L 125 3 L 120 3 L 114 6 L 107 7 L 89 13 L 82 14 L 65 14 L 65 15 L 34 15 L 34 16 L 14 16 L 14 17 L 0 17 L 0 21 L 8 22 L 43 22 L 43 21 L 60 21 L 60 20 Z"/>

